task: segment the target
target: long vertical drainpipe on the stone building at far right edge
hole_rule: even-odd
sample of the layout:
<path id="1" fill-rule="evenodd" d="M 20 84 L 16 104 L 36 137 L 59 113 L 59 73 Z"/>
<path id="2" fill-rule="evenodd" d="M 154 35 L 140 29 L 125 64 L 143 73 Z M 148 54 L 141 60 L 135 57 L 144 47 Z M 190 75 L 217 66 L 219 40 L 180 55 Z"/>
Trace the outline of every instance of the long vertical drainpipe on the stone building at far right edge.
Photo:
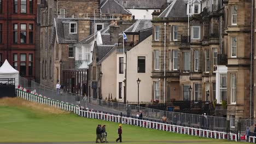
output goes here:
<path id="1" fill-rule="evenodd" d="M 252 118 L 252 64 L 253 64 L 253 0 L 251 0 L 251 70 L 250 70 L 250 119 Z"/>

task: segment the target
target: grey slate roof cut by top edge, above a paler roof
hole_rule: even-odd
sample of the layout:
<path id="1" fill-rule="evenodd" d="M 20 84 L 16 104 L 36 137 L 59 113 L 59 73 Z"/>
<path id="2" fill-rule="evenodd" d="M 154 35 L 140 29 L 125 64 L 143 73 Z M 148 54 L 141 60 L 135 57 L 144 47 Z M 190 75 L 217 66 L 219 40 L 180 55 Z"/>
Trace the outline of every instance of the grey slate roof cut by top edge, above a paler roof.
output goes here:
<path id="1" fill-rule="evenodd" d="M 162 5 L 166 4 L 166 0 L 126 0 L 126 4 L 123 0 L 118 0 L 118 2 L 126 9 L 161 9 Z"/>

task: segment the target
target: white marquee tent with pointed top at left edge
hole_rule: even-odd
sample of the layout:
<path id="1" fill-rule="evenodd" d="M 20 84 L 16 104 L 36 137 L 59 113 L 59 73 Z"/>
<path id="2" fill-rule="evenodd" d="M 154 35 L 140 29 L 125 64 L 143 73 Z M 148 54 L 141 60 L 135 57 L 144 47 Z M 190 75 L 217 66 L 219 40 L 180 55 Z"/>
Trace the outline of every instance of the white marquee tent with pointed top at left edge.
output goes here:
<path id="1" fill-rule="evenodd" d="M 0 79 L 1 78 L 2 79 L 15 78 L 15 87 L 19 86 L 19 71 L 11 67 L 7 59 L 5 59 L 3 65 L 0 67 Z M 5 82 L 3 81 L 2 83 L 5 83 Z"/>

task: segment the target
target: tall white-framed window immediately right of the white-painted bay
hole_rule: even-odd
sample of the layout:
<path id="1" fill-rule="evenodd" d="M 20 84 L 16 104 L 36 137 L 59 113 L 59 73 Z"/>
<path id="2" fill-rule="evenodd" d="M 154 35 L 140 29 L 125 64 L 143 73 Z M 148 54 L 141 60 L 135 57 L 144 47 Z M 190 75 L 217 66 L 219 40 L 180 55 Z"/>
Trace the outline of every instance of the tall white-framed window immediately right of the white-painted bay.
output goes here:
<path id="1" fill-rule="evenodd" d="M 235 80 L 233 80 L 233 77 L 235 76 Z M 235 81 L 235 83 L 233 83 Z M 233 92 L 235 91 L 235 95 L 233 95 Z M 236 104 L 237 100 L 237 74 L 236 73 L 230 73 L 230 104 Z"/>

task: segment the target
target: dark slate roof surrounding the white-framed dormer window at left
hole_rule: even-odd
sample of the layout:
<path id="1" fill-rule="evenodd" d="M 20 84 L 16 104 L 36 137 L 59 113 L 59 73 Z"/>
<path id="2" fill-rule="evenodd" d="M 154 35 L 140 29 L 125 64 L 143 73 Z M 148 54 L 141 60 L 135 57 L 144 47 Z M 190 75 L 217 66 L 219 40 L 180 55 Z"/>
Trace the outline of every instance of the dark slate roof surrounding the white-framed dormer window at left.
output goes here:
<path id="1" fill-rule="evenodd" d="M 59 44 L 74 44 L 77 43 L 77 37 L 70 37 L 71 39 L 65 39 L 65 32 L 69 32 L 69 29 L 64 27 L 63 22 L 70 22 L 74 19 L 67 19 L 67 18 L 55 18 L 55 30 L 57 35 L 57 40 Z"/>

